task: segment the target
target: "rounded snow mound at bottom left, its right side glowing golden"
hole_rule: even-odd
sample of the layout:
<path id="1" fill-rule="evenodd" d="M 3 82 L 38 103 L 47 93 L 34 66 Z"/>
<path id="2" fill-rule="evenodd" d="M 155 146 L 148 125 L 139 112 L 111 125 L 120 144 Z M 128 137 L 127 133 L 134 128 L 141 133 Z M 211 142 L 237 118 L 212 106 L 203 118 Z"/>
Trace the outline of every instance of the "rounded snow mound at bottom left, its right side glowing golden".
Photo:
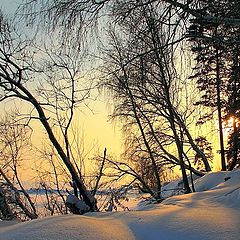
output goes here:
<path id="1" fill-rule="evenodd" d="M 127 226 L 118 220 L 80 215 L 48 217 L 19 223 L 0 231 L 0 240 L 131 240 Z"/>

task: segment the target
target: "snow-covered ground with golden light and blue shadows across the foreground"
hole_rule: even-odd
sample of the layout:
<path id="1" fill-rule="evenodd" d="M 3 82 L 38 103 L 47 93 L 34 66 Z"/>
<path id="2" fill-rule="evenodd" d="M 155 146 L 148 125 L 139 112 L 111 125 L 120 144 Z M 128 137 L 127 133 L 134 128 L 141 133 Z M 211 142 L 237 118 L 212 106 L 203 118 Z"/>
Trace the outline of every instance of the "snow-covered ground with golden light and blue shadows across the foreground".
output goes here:
<path id="1" fill-rule="evenodd" d="M 207 174 L 195 186 L 196 193 L 141 204 L 135 211 L 48 217 L 12 226 L 0 222 L 0 240 L 240 239 L 240 170 Z"/>

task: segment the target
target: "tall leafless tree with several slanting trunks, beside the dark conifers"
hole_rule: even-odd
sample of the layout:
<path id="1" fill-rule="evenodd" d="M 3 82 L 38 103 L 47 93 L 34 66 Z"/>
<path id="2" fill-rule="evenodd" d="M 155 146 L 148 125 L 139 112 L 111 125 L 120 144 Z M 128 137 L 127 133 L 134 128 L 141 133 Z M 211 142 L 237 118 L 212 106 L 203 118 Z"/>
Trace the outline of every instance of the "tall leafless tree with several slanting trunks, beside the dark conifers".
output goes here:
<path id="1" fill-rule="evenodd" d="M 125 126 L 137 126 L 133 131 L 141 134 L 156 180 L 160 179 L 159 159 L 175 162 L 181 166 L 184 189 L 190 192 L 186 165 L 192 167 L 187 144 L 201 156 L 207 171 L 210 166 L 190 134 L 187 122 L 193 109 L 184 105 L 181 97 L 184 80 L 176 71 L 177 46 L 173 44 L 179 38 L 178 20 L 171 17 L 171 8 L 157 3 L 124 6 L 124 10 L 116 6 L 114 14 L 119 11 L 120 16 L 114 17 L 120 21 L 110 32 L 112 51 L 106 51 L 106 86 L 116 99 L 113 117 L 124 119 Z"/>

